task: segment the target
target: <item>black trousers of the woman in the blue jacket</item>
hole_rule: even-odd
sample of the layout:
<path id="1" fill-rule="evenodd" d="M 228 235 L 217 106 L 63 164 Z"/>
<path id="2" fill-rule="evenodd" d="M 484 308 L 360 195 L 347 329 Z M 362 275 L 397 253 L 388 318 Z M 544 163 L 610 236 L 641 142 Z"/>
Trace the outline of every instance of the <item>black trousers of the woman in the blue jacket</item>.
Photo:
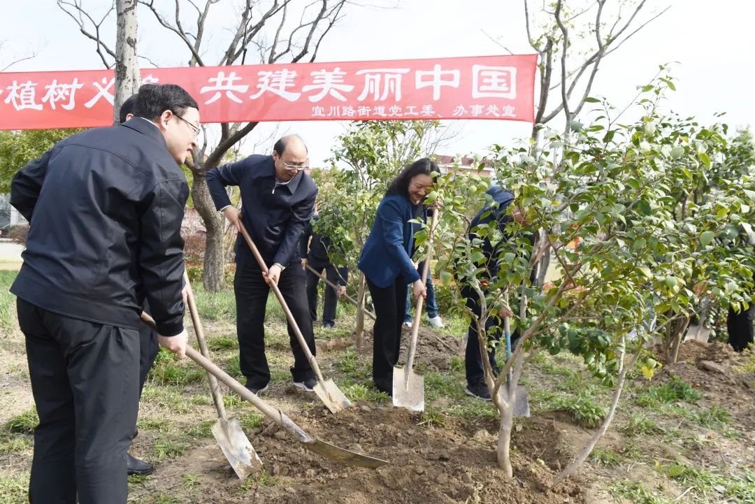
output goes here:
<path id="1" fill-rule="evenodd" d="M 407 282 L 399 275 L 393 285 L 377 287 L 367 278 L 375 309 L 372 343 L 372 380 L 378 390 L 393 391 L 393 366 L 399 361 L 401 324 L 406 308 Z"/>

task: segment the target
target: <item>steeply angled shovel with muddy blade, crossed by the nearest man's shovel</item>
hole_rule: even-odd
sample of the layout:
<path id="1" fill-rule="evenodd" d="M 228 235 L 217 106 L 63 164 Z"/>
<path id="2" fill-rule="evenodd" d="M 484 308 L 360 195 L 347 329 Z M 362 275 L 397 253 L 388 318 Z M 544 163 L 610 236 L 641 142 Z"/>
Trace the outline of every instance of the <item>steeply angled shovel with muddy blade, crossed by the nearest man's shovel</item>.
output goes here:
<path id="1" fill-rule="evenodd" d="M 194 293 L 191 289 L 189 276 L 186 275 L 185 271 L 183 272 L 183 282 L 186 284 L 188 290 L 187 304 L 189 305 L 191 320 L 194 324 L 196 340 L 199 342 L 199 351 L 202 352 L 205 358 L 209 358 L 207 343 L 205 342 L 205 331 L 202 330 L 202 321 L 199 320 Z M 217 388 L 217 380 L 211 373 L 207 373 L 207 377 L 212 391 L 212 401 L 215 403 L 215 408 L 217 409 L 217 422 L 212 426 L 212 435 L 214 435 L 217 444 L 220 445 L 220 450 L 223 450 L 223 455 L 226 456 L 231 467 L 233 467 L 233 471 L 236 472 L 239 478 L 245 480 L 248 475 L 260 472 L 262 461 L 244 434 L 239 420 L 235 418 L 229 419 L 226 416 L 226 407 L 223 404 L 223 396 L 220 395 L 220 389 Z"/>

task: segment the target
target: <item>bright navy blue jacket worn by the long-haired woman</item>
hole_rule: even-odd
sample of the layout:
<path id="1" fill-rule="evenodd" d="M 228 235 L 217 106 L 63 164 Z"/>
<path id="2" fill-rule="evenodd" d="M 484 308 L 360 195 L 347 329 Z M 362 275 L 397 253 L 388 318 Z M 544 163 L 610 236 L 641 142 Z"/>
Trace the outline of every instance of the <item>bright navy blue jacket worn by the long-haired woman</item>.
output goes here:
<path id="1" fill-rule="evenodd" d="M 409 257 L 414 244 L 414 226 L 409 221 L 417 214 L 417 207 L 402 195 L 388 195 L 377 207 L 357 264 L 377 287 L 390 286 L 399 275 L 407 284 L 420 279 Z"/>

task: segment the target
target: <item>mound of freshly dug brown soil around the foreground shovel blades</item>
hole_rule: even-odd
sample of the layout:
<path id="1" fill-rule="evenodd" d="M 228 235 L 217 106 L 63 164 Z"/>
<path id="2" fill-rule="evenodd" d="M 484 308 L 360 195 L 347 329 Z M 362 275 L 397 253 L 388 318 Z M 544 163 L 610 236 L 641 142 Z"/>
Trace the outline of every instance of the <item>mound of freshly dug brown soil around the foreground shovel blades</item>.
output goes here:
<path id="1" fill-rule="evenodd" d="M 586 502 L 581 481 L 551 489 L 553 471 L 536 461 L 548 458 L 548 445 L 556 446 L 553 419 L 538 419 L 517 433 L 513 465 L 518 478 L 507 480 L 496 464 L 494 423 L 429 428 L 419 425 L 421 418 L 408 410 L 364 404 L 337 416 L 310 410 L 294 418 L 310 434 L 327 432 L 323 441 L 390 461 L 380 469 L 333 463 L 266 421 L 248 434 L 267 474 L 279 481 L 270 485 L 258 478 L 243 493 L 222 454 L 208 458 L 208 451 L 219 452 L 217 447 L 205 444 L 187 456 L 201 461 L 196 467 L 200 478 L 214 480 L 214 490 L 205 494 L 207 502 Z M 467 432 L 473 430 L 470 438 Z M 176 477 L 167 471 L 158 474 Z"/>

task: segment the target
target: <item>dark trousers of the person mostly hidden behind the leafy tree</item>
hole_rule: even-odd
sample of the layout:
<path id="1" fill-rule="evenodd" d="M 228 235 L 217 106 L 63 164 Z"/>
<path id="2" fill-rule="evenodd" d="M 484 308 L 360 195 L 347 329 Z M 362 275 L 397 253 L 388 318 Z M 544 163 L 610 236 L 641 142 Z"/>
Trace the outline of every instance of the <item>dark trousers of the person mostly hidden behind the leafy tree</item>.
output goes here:
<path id="1" fill-rule="evenodd" d="M 482 306 L 479 303 L 477 291 L 471 287 L 464 287 L 461 290 L 461 295 L 467 298 L 467 308 L 472 310 L 476 317 L 479 318 L 482 315 Z M 488 361 L 490 361 L 490 365 L 496 373 L 498 366 L 495 364 L 495 348 L 504 335 L 504 328 L 501 324 L 501 318 L 498 318 L 497 315 L 491 315 L 485 321 L 485 333 L 488 335 L 488 343 L 493 343 L 492 345 L 488 345 Z M 511 340 L 516 340 L 516 337 L 518 337 L 517 331 L 511 335 Z M 474 320 L 470 321 L 470 327 L 467 330 L 467 350 L 464 353 L 464 367 L 467 371 L 468 384 L 473 385 L 485 381 L 485 367 L 482 364 L 479 336 Z"/>

